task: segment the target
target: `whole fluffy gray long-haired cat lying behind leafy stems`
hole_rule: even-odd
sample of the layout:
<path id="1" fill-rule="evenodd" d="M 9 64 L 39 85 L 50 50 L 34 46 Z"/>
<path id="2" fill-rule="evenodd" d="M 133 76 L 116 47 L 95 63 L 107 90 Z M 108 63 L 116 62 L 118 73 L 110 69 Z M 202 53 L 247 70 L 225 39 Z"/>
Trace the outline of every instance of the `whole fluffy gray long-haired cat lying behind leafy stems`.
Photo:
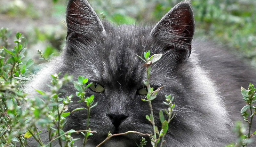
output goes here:
<path id="1" fill-rule="evenodd" d="M 239 115 L 244 105 L 241 86 L 255 83 L 256 76 L 250 67 L 214 44 L 192 41 L 195 23 L 188 1 L 173 7 L 155 27 L 116 27 L 101 21 L 86 0 L 69 0 L 66 20 L 66 48 L 36 75 L 26 91 L 36 97 L 31 86 L 49 90 L 50 74 L 59 72 L 72 74 L 75 79 L 82 75 L 94 82 L 94 89 L 86 92 L 95 95 L 98 102 L 92 109 L 90 126 L 98 133 L 88 146 L 102 142 L 108 131 L 152 133 L 152 125 L 145 118 L 150 113 L 148 104 L 141 101 L 145 95 L 139 92 L 145 87 L 146 71 L 137 55 L 147 50 L 163 54 L 151 73 L 151 86 L 164 86 L 153 101 L 156 126 L 161 126 L 159 110 L 166 107 L 164 94 L 175 97 L 176 116 L 169 125 L 165 146 L 220 147 L 234 140 L 232 122 L 242 120 Z M 72 85 L 66 90 L 67 95 L 76 92 Z M 69 111 L 84 107 L 78 100 L 73 99 Z M 86 112 L 72 114 L 66 130 L 85 129 L 86 118 Z M 47 135 L 42 137 L 47 139 Z M 104 146 L 133 147 L 140 138 L 119 136 Z M 81 146 L 81 142 L 76 145 Z M 146 146 L 151 146 L 150 141 Z"/>

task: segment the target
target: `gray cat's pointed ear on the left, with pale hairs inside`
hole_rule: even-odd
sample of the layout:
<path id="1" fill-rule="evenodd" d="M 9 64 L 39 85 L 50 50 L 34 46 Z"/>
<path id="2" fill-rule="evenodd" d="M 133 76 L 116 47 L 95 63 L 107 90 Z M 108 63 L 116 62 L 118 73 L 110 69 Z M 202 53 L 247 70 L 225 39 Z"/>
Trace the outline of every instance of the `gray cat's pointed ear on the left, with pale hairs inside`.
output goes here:
<path id="1" fill-rule="evenodd" d="M 97 33 L 105 34 L 103 24 L 86 0 L 69 0 L 66 12 L 67 39 L 83 38 Z"/>

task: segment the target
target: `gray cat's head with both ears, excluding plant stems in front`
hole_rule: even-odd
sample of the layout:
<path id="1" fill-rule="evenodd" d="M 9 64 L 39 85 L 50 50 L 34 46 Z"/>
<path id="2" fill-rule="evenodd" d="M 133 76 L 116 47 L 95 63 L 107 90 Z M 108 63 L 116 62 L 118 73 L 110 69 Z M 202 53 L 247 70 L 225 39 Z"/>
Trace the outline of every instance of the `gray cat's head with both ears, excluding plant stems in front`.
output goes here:
<path id="1" fill-rule="evenodd" d="M 152 55 L 164 54 L 153 65 L 150 81 L 151 87 L 164 86 L 153 101 L 156 126 L 161 126 L 159 110 L 166 108 L 164 94 L 175 95 L 176 104 L 186 105 L 182 99 L 188 92 L 182 89 L 185 85 L 181 82 L 183 75 L 179 67 L 190 55 L 194 34 L 189 4 L 178 4 L 154 28 L 144 28 L 102 23 L 88 2 L 71 0 L 67 9 L 67 27 L 67 49 L 63 54 L 66 67 L 63 71 L 75 78 L 85 76 L 94 83 L 94 88 L 86 91 L 87 96 L 95 95 L 95 102 L 98 102 L 90 117 L 90 128 L 98 132 L 90 138 L 94 145 L 103 141 L 109 131 L 112 134 L 153 132 L 151 123 L 146 119 L 146 115 L 150 115 L 148 103 L 141 100 L 146 97 L 143 84 L 146 69 L 137 55 L 143 56 L 144 51 L 150 50 Z M 68 94 L 76 91 L 71 87 L 66 90 Z M 78 100 L 73 99 L 70 111 L 84 107 L 83 103 L 77 103 Z M 173 124 L 175 122 L 173 120 Z M 86 112 L 76 112 L 68 118 L 67 129 L 82 130 L 86 124 Z M 115 137 L 111 142 L 118 144 L 121 141 L 126 146 L 136 146 L 140 139 L 139 135 L 125 135 Z"/>

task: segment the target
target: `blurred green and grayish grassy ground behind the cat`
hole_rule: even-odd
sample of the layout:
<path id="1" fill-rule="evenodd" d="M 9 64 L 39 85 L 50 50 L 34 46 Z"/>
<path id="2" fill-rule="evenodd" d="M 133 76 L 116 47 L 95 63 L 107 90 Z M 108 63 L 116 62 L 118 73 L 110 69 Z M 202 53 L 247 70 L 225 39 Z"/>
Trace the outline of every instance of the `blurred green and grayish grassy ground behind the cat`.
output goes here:
<path id="1" fill-rule="evenodd" d="M 100 18 L 117 25 L 154 25 L 180 0 L 89 0 Z M 196 38 L 224 45 L 256 66 L 256 1 L 191 0 Z M 36 63 L 59 54 L 66 35 L 66 0 L 1 0 L 0 27 L 28 40 L 28 58 Z M 14 39 L 13 39 L 14 40 Z M 12 40 L 10 40 L 10 43 Z"/>

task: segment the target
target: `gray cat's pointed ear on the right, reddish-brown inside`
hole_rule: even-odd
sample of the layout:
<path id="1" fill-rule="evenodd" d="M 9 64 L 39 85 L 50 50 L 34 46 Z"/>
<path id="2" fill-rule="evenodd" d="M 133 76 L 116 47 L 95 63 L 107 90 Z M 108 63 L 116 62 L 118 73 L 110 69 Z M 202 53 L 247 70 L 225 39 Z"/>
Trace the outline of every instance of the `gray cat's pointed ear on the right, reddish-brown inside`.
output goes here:
<path id="1" fill-rule="evenodd" d="M 191 53 L 195 22 L 189 1 L 174 6 L 153 28 L 151 35 L 183 61 Z"/>

